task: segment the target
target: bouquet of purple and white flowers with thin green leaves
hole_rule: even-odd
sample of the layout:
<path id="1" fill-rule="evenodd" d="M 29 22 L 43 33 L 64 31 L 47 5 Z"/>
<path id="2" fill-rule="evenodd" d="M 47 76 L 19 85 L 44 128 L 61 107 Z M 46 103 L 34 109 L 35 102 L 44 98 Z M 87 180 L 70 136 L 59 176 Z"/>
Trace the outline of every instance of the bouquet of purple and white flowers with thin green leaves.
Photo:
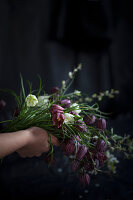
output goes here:
<path id="1" fill-rule="evenodd" d="M 17 95 L 9 89 L 17 103 L 11 120 L 5 123 L 2 132 L 12 132 L 37 126 L 56 136 L 60 148 L 70 160 L 72 172 L 76 173 L 83 185 L 89 184 L 90 175 L 102 171 L 104 166 L 115 173 L 119 162 L 114 153 L 123 152 L 126 157 L 132 156 L 133 139 L 120 136 L 108 130 L 106 121 L 109 114 L 100 111 L 98 103 L 104 96 L 113 98 L 117 90 L 105 91 L 88 97 L 81 91 L 67 93 L 74 81 L 76 73 L 81 70 L 81 64 L 68 73 L 68 79 L 63 80 L 61 87 L 54 87 L 46 94 L 42 80 L 39 89 L 33 90 L 28 81 L 29 92 L 24 89 L 21 78 L 21 91 Z M 51 140 L 50 140 L 51 141 Z M 45 157 L 49 163 L 54 163 L 54 147 L 50 142 L 50 151 Z M 114 153 L 113 153 L 114 152 Z"/>

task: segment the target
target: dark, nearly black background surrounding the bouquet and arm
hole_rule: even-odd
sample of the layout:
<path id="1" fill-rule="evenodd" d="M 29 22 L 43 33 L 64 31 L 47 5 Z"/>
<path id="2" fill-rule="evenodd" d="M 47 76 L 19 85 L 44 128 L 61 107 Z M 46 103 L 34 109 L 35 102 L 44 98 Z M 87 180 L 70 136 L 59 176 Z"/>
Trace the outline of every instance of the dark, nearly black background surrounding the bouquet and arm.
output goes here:
<path id="1" fill-rule="evenodd" d="M 119 96 L 104 99 L 100 106 L 113 112 L 109 127 L 132 135 L 132 15 L 130 0 L 0 0 L 0 88 L 19 92 L 21 72 L 35 89 L 40 74 L 49 93 L 82 63 L 72 89 L 89 96 L 118 89 Z M 1 111 L 3 120 L 15 103 L 3 93 L 0 99 L 7 103 Z M 76 177 L 69 180 L 67 160 L 58 149 L 57 157 L 56 167 L 47 169 L 43 156 L 25 160 L 8 156 L 1 167 L 1 194 L 10 199 L 48 199 L 51 193 L 57 199 L 132 199 L 132 161 L 122 161 L 113 180 L 106 175 L 94 178 L 87 192 Z M 60 168 L 63 172 L 58 172 Z"/>

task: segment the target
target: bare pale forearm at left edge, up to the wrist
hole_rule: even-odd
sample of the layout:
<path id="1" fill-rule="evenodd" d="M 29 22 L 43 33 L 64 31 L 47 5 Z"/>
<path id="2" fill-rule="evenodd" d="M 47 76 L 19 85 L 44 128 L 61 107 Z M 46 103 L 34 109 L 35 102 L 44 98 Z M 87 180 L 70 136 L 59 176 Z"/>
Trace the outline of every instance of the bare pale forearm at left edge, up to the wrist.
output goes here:
<path id="1" fill-rule="evenodd" d="M 28 130 L 0 134 L 0 158 L 27 145 L 28 138 Z"/>

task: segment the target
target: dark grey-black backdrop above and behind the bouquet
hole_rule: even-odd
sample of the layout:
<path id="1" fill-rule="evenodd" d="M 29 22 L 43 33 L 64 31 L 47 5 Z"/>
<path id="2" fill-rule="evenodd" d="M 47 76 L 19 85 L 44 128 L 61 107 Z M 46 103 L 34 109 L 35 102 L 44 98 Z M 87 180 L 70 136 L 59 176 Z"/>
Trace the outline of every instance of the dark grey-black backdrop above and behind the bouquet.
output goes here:
<path id="1" fill-rule="evenodd" d="M 38 73 L 49 92 L 81 62 L 73 88 L 88 95 L 119 89 L 113 110 L 132 112 L 131 19 L 124 0 L 1 0 L 0 87 L 19 92 L 21 72 L 37 88 Z"/>

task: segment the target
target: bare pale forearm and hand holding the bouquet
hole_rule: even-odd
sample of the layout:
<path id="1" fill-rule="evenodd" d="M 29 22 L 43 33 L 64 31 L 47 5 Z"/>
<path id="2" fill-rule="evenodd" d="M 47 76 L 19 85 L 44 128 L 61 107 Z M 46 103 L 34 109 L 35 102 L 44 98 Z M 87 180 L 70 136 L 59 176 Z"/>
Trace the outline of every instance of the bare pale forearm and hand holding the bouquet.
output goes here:
<path id="1" fill-rule="evenodd" d="M 51 134 L 50 137 L 51 143 L 58 146 L 57 138 Z M 41 156 L 42 153 L 48 152 L 50 149 L 50 137 L 47 131 L 38 127 L 12 133 L 1 133 L 0 158 L 4 158 L 13 152 L 17 152 L 23 158 Z"/>

